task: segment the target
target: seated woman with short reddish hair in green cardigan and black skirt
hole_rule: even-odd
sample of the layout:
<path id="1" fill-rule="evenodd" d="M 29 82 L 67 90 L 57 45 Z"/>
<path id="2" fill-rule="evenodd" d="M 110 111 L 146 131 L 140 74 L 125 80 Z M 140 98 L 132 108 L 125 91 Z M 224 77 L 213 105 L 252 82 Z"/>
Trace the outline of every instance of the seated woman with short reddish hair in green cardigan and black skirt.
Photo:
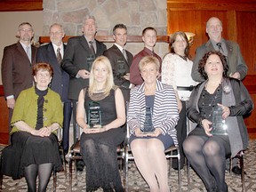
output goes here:
<path id="1" fill-rule="evenodd" d="M 60 171 L 58 139 L 56 131 L 62 127 L 63 111 L 60 96 L 48 85 L 53 69 L 47 63 L 33 67 L 36 86 L 20 93 L 15 103 L 12 126 L 12 147 L 15 148 L 13 164 L 20 164 L 18 176 L 25 176 L 28 191 L 46 191 L 52 168 Z"/>

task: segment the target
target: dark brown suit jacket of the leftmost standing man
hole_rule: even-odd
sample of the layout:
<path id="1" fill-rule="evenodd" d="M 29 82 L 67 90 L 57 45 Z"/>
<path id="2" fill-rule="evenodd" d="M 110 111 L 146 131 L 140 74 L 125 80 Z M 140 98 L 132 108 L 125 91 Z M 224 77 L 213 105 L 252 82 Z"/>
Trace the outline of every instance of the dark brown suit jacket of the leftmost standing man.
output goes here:
<path id="1" fill-rule="evenodd" d="M 14 95 L 17 99 L 22 90 L 33 86 L 32 65 L 36 63 L 35 46 L 31 45 L 31 62 L 20 42 L 4 47 L 2 80 L 4 97 Z"/>

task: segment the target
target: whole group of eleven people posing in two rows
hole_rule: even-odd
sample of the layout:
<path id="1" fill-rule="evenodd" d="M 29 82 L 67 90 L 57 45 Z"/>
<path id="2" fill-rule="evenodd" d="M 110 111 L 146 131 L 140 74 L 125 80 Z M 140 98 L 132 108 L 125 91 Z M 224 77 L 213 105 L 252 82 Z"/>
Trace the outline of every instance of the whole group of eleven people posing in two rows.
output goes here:
<path id="1" fill-rule="evenodd" d="M 83 36 L 69 38 L 66 45 L 64 28 L 54 23 L 51 43 L 36 49 L 31 44 L 33 28 L 24 22 L 18 28 L 19 42 L 4 48 L 2 78 L 12 148 L 3 156 L 11 159 L 11 149 L 11 164 L 17 165 L 6 165 L 4 173 L 13 179 L 25 176 L 33 192 L 38 175 L 38 191 L 46 191 L 52 169 L 62 169 L 56 130 L 63 128 L 67 154 L 73 113 L 74 142 L 80 140 L 86 166 L 86 191 L 124 191 L 116 146 L 125 141 L 126 124 L 135 164 L 150 191 L 170 191 L 164 150 L 173 145 L 180 148 L 181 168 L 186 156 L 207 191 L 228 191 L 226 158 L 248 147 L 243 116 L 251 113 L 253 103 L 240 81 L 247 67 L 239 45 L 221 36 L 221 21 L 207 21 L 210 39 L 196 49 L 193 61 L 182 31 L 172 34 L 163 62 L 154 52 L 155 28 L 143 29 L 144 49 L 134 57 L 125 49 L 124 24 L 113 28 L 115 44 L 109 49 L 95 39 L 93 16 L 84 18 L 82 31 Z M 92 104 L 97 104 L 96 124 L 89 123 L 95 115 Z M 216 106 L 222 109 L 227 135 L 212 135 Z M 196 124 L 189 132 L 187 117 Z M 177 169 L 177 164 L 172 167 Z M 83 170 L 83 164 L 79 166 Z"/>

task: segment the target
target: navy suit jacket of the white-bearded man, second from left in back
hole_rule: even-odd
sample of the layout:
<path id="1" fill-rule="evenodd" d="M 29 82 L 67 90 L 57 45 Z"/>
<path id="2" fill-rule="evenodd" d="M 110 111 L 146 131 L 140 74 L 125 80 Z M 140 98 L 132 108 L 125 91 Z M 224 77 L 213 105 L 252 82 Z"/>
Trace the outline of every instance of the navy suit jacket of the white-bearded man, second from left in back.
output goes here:
<path id="1" fill-rule="evenodd" d="M 66 45 L 63 45 L 65 52 Z M 67 102 L 69 75 L 60 67 L 52 43 L 45 44 L 38 48 L 36 60 L 37 62 L 49 63 L 52 66 L 53 77 L 50 87 L 54 92 L 58 92 L 60 94 L 62 102 Z"/>

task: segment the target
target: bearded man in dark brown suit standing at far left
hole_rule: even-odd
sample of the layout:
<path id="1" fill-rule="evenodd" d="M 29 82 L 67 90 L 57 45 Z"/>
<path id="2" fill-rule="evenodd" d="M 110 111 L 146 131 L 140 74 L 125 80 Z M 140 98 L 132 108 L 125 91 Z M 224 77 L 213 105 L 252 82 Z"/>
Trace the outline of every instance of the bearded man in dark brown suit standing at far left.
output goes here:
<path id="1" fill-rule="evenodd" d="M 22 22 L 17 31 L 19 42 L 4 47 L 2 60 L 2 80 L 4 97 L 9 108 L 9 122 L 15 100 L 21 91 L 33 85 L 32 65 L 36 63 L 36 47 L 31 44 L 34 36 L 32 25 Z M 11 131 L 11 127 L 9 127 Z"/>

